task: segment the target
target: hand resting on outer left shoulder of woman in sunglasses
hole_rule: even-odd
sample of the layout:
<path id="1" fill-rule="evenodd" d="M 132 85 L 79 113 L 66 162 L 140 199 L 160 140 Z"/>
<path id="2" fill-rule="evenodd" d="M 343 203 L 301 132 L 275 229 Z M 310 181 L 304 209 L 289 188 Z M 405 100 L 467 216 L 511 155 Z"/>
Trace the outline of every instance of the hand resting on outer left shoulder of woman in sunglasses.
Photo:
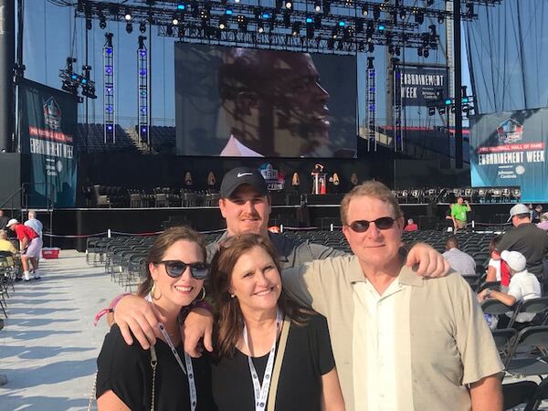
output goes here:
<path id="1" fill-rule="evenodd" d="M 142 297 L 128 295 L 116 305 L 114 321 L 120 327 L 121 335 L 128 345 L 133 343 L 133 333 L 142 349 L 148 350 L 156 343 L 154 330 L 158 330 L 158 322 L 165 322 L 167 319 L 154 310 L 152 303 Z"/>

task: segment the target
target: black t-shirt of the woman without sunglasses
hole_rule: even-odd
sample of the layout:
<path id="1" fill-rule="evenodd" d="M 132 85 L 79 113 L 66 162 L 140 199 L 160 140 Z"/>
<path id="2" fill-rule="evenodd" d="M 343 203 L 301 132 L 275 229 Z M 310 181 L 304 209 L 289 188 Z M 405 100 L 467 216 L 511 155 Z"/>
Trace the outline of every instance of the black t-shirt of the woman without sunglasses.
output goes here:
<path id="1" fill-rule="evenodd" d="M 261 384 L 268 358 L 269 354 L 253 358 Z M 276 409 L 321 410 L 321 375 L 334 366 L 325 318 L 312 315 L 304 326 L 292 323 L 279 374 Z M 219 411 L 255 411 L 247 355 L 237 350 L 233 358 L 212 360 L 211 373 Z"/>

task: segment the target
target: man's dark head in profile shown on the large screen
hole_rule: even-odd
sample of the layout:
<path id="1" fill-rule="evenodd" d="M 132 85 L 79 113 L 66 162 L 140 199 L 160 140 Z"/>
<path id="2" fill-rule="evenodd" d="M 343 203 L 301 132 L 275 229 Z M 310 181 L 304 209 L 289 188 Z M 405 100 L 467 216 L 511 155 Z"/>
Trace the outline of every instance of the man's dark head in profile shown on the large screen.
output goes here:
<path id="1" fill-rule="evenodd" d="M 311 56 L 259 52 L 237 85 L 232 132 L 240 142 L 264 155 L 329 156 L 329 94 L 321 87 Z"/>

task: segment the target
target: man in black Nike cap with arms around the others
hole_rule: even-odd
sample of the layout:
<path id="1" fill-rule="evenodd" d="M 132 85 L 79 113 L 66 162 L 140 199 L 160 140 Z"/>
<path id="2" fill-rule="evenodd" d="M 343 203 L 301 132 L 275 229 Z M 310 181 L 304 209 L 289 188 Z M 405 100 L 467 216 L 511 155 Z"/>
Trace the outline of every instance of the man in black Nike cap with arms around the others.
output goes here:
<path id="1" fill-rule="evenodd" d="M 308 240 L 297 240 L 285 237 L 283 234 L 271 233 L 268 230 L 270 215 L 270 196 L 262 175 L 257 169 L 237 167 L 230 170 L 221 183 L 221 199 L 219 208 L 227 220 L 227 232 L 216 242 L 207 246 L 207 260 L 211 261 L 216 253 L 217 242 L 228 236 L 242 233 L 258 233 L 269 237 L 276 247 L 282 269 L 299 267 L 314 259 L 336 257 L 344 254 L 333 248 L 312 244 Z M 438 277 L 448 272 L 449 266 L 445 258 L 434 248 L 427 245 L 416 245 L 409 251 L 406 265 L 412 267 L 418 264 L 416 272 L 423 276 Z M 198 339 L 204 336 L 204 346 L 207 351 L 213 350 L 211 334 L 213 321 L 211 314 L 204 309 L 197 309 L 189 314 L 195 315 L 192 326 L 188 321 L 184 324 L 184 351 L 199 356 L 196 350 Z M 121 334 L 128 344 L 132 344 L 132 333 L 143 349 L 148 349 L 150 343 L 155 343 L 153 329 L 157 327 L 158 314 L 153 311 L 152 304 L 135 296 L 127 296 L 120 300 L 114 311 L 114 319 L 120 327 Z M 131 332 L 130 332 L 131 329 Z"/>

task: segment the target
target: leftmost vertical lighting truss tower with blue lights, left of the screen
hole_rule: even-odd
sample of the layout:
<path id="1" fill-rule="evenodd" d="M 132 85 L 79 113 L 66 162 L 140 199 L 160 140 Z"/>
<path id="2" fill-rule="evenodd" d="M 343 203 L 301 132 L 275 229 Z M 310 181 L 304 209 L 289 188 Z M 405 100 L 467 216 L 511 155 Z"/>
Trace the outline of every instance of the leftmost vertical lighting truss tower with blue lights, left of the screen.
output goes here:
<path id="1" fill-rule="evenodd" d="M 112 33 L 105 34 L 103 46 L 103 141 L 116 142 L 116 103 L 114 94 L 114 47 Z"/>

